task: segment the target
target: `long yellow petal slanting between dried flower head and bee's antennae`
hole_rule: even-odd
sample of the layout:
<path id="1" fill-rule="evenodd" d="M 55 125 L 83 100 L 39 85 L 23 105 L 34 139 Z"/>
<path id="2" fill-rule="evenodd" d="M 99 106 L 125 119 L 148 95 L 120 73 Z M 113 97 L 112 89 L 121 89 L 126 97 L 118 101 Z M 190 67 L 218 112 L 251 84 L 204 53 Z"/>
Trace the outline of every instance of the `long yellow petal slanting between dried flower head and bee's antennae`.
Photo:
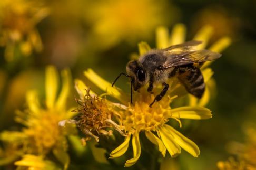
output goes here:
<path id="1" fill-rule="evenodd" d="M 123 103 L 127 103 L 127 101 L 129 101 L 129 98 L 122 92 L 122 90 L 112 87 L 110 82 L 107 82 L 106 80 L 101 78 L 92 69 L 88 69 L 87 71 L 85 71 L 84 75 L 97 87 L 105 91 L 107 94 L 112 95 L 119 101 Z"/>

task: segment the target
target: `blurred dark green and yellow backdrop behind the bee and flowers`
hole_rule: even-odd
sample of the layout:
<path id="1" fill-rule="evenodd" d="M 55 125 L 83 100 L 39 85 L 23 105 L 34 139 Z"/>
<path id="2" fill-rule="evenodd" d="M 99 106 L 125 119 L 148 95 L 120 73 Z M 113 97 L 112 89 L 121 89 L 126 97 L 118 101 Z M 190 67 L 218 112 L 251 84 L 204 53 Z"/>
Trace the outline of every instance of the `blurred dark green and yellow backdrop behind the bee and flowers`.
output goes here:
<path id="1" fill-rule="evenodd" d="M 213 118 L 193 121 L 195 125 L 182 132 L 199 145 L 199 158 L 183 151 L 172 165 L 180 169 L 216 169 L 218 161 L 230 156 L 229 143 L 243 143 L 244 129 L 256 121 L 255 11 L 253 0 L 1 0 L 0 131 L 21 128 L 14 121 L 15 110 L 24 109 L 28 89 L 39 89 L 44 98 L 47 65 L 59 70 L 68 67 L 73 78 L 84 81 L 83 71 L 93 68 L 112 82 L 125 71 L 139 42 L 155 47 L 157 26 L 171 30 L 183 23 L 186 40 L 191 40 L 196 31 L 209 25 L 213 28 L 209 44 L 223 36 L 232 39 L 222 57 L 212 64 L 216 95 L 207 108 L 212 110 Z M 129 91 L 125 78 L 117 86 Z M 76 105 L 75 95 L 72 92 L 70 105 Z M 77 157 L 71 148 L 70 168 L 113 168 L 97 162 L 92 153 L 87 148 L 83 156 Z"/>

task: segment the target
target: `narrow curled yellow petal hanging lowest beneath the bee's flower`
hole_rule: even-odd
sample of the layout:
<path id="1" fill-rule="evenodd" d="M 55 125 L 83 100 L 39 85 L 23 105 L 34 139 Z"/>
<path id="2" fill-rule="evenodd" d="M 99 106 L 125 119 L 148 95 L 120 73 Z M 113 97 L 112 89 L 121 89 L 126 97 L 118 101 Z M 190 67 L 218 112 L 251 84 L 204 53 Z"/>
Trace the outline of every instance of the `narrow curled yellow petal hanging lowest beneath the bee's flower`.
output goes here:
<path id="1" fill-rule="evenodd" d="M 124 167 L 130 167 L 134 165 L 141 156 L 141 144 L 140 144 L 139 133 L 135 133 L 135 135 L 133 135 L 132 147 L 133 147 L 133 158 L 131 158 L 130 160 L 127 160 Z"/>

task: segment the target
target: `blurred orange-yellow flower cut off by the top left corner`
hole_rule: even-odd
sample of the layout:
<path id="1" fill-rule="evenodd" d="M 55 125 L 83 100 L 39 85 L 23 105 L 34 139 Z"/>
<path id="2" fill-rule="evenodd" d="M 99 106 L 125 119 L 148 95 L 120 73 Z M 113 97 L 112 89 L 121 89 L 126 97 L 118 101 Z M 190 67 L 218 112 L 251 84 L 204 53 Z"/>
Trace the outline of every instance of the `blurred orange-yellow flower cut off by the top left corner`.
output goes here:
<path id="1" fill-rule="evenodd" d="M 49 13 L 42 3 L 26 0 L 0 2 L 0 46 L 5 46 L 7 61 L 14 59 L 16 47 L 25 56 L 32 50 L 42 51 L 43 45 L 35 26 Z"/>

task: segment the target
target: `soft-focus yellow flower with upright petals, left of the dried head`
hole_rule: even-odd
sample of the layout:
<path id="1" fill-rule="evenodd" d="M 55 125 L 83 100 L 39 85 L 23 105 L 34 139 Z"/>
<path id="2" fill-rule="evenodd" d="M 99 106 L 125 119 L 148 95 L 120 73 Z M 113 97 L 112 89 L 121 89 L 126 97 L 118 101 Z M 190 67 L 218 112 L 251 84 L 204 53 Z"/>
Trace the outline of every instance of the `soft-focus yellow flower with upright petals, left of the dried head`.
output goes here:
<path id="1" fill-rule="evenodd" d="M 26 103 L 28 108 L 17 112 L 15 120 L 25 127 L 21 132 L 5 131 L 0 139 L 6 143 L 19 146 L 24 154 L 33 154 L 45 157 L 53 152 L 56 158 L 67 168 L 69 157 L 67 151 L 67 132 L 58 123 L 63 119 L 70 119 L 74 113 L 66 109 L 67 97 L 71 90 L 71 74 L 68 69 L 62 71 L 63 86 L 58 94 L 58 74 L 56 68 L 46 68 L 46 107 L 40 105 L 37 92 L 27 92 Z M 10 137 L 11 136 L 11 137 Z M 25 162 L 23 165 L 25 166 Z M 29 165 L 27 165 L 29 166 Z"/>

